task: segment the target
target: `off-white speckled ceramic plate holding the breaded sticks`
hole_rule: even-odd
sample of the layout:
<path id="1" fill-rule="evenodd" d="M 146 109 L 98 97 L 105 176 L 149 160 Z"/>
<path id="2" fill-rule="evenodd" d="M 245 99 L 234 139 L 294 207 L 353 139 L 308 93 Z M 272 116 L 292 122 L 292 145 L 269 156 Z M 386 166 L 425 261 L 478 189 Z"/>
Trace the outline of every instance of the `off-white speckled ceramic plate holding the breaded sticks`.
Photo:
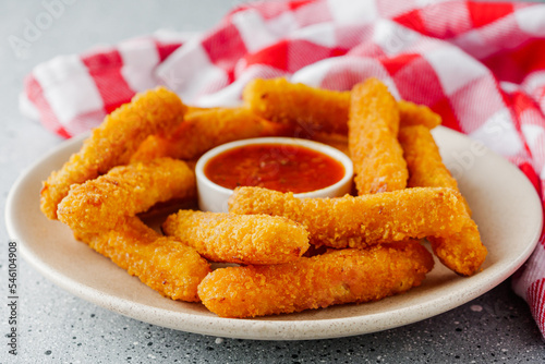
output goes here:
<path id="1" fill-rule="evenodd" d="M 80 148 L 82 138 L 62 144 L 17 180 L 8 198 L 7 227 L 19 241 L 23 257 L 46 278 L 84 300 L 142 321 L 261 340 L 324 339 L 385 330 L 438 315 L 493 289 L 530 256 L 541 232 L 538 197 L 516 167 L 445 128 L 437 128 L 434 136 L 471 205 L 488 257 L 484 269 L 471 278 L 458 277 L 436 262 L 421 287 L 374 303 L 227 319 L 201 304 L 162 298 L 39 211 L 41 181 Z"/>

